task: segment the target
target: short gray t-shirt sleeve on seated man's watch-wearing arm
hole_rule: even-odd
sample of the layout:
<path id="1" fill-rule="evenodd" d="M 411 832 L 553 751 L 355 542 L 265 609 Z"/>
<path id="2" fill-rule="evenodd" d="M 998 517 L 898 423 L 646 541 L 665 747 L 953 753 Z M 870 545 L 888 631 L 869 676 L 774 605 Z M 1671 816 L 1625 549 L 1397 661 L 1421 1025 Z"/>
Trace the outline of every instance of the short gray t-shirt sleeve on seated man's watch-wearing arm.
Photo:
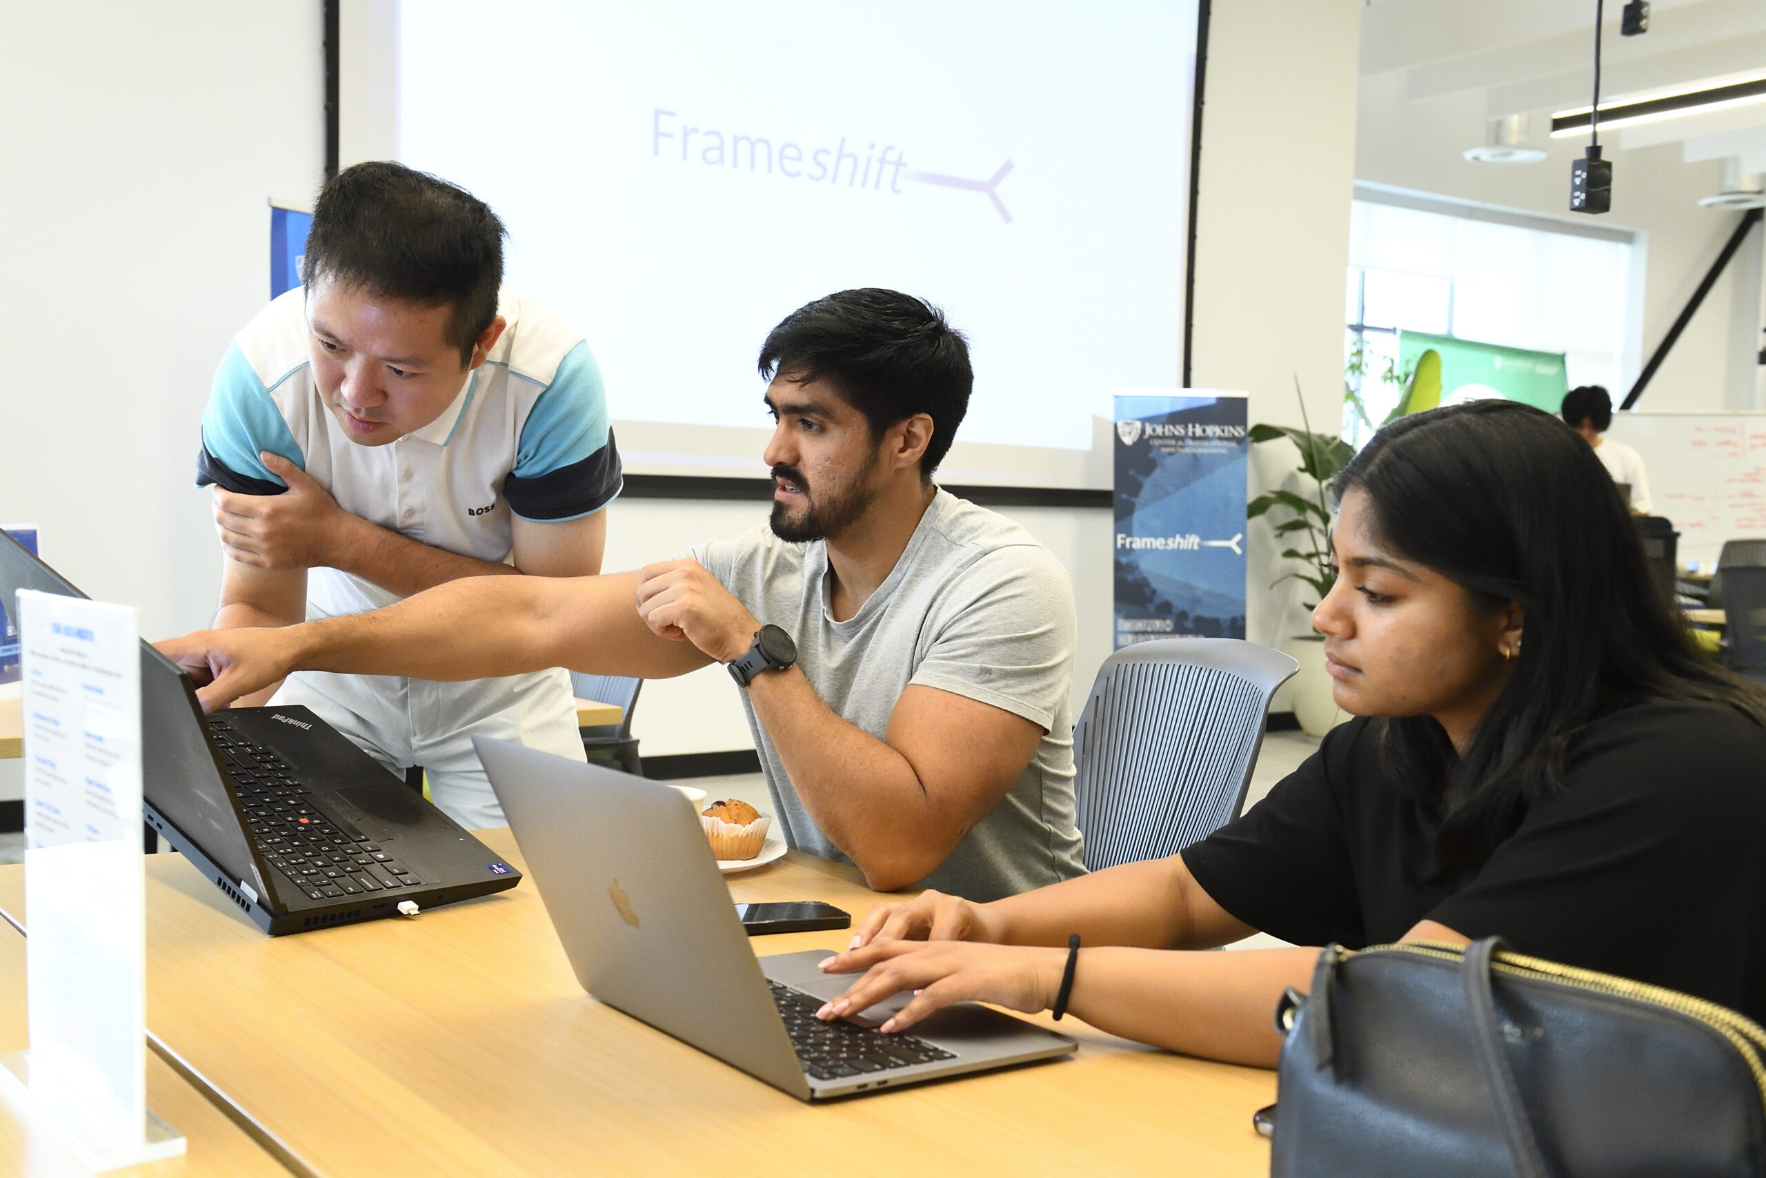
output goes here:
<path id="1" fill-rule="evenodd" d="M 952 578 L 911 683 L 1054 728 L 1074 673 L 1074 590 L 1047 549 L 996 547 Z"/>

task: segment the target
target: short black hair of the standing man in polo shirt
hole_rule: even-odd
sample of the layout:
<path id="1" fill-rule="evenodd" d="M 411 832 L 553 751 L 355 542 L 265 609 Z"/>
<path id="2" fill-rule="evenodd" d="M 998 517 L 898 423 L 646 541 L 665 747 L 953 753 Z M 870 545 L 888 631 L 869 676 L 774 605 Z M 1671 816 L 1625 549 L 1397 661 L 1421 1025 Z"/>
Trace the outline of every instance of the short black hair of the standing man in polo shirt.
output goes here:
<path id="1" fill-rule="evenodd" d="M 466 189 L 404 164 L 344 168 L 313 208 L 300 281 L 327 277 L 389 298 L 452 306 L 447 343 L 466 364 L 496 318 L 503 223 Z"/>

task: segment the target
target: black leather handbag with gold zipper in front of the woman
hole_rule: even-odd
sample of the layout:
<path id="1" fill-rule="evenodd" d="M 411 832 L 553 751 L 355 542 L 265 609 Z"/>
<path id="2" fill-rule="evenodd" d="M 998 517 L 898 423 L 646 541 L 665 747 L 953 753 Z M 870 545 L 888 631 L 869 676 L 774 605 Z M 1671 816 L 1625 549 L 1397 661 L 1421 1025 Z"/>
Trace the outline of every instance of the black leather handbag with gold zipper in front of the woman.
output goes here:
<path id="1" fill-rule="evenodd" d="M 1270 1173 L 1766 1176 L 1766 1031 L 1501 948 L 1319 954 L 1277 1010 Z"/>

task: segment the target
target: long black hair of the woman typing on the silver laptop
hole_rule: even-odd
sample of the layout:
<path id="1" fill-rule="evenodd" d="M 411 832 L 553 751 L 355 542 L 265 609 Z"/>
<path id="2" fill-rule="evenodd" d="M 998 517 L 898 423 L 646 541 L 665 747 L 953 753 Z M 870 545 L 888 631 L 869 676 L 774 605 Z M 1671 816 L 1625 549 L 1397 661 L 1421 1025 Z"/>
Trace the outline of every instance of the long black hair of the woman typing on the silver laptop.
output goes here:
<path id="1" fill-rule="evenodd" d="M 1337 475 L 1339 502 L 1349 491 L 1395 553 L 1492 611 L 1524 609 L 1521 655 L 1464 756 L 1427 715 L 1376 721 L 1388 766 L 1443 819 L 1443 871 L 1483 864 L 1561 789 L 1602 715 L 1697 699 L 1766 726 L 1766 691 L 1688 643 L 1605 466 L 1549 413 L 1491 399 L 1400 417 Z"/>

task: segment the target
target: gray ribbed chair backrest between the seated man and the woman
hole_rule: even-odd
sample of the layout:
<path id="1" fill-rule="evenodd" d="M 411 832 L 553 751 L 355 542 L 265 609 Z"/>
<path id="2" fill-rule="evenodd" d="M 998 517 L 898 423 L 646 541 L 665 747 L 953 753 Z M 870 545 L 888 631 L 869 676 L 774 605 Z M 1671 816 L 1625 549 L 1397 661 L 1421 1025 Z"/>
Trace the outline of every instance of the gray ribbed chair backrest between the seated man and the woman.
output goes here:
<path id="1" fill-rule="evenodd" d="M 1236 638 L 1118 650 L 1074 728 L 1086 867 L 1176 855 L 1238 818 L 1270 696 L 1300 668 Z"/>

